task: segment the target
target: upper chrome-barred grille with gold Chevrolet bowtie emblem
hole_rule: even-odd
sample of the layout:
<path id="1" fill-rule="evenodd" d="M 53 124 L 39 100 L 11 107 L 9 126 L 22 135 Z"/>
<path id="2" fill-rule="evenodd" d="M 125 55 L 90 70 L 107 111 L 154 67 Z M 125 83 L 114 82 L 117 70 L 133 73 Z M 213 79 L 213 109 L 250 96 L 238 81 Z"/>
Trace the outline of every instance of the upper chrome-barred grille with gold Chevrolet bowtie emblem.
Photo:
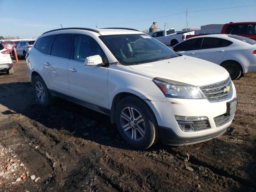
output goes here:
<path id="1" fill-rule="evenodd" d="M 228 78 L 225 81 L 206 86 L 200 86 L 199 88 L 202 90 L 202 92 L 210 102 L 216 102 L 229 98 L 230 94 L 232 93 L 231 85 L 231 80 L 230 78 Z M 228 86 L 230 86 L 229 92 L 226 91 L 226 88 L 228 88 Z"/>

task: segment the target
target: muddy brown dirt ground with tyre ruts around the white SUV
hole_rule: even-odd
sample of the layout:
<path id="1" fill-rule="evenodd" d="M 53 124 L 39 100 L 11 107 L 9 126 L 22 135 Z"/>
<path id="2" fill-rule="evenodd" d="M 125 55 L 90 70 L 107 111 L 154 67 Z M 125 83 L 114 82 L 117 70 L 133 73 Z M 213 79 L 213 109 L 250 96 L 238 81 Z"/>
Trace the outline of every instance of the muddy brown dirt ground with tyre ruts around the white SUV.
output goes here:
<path id="1" fill-rule="evenodd" d="M 222 136 L 135 150 L 108 116 L 61 99 L 39 106 L 26 61 L 14 68 L 14 75 L 0 73 L 0 146 L 9 151 L 0 172 L 15 155 L 26 167 L 18 174 L 40 179 L 16 182 L 9 173 L 0 191 L 256 191 L 256 74 L 234 81 L 238 110 Z"/>

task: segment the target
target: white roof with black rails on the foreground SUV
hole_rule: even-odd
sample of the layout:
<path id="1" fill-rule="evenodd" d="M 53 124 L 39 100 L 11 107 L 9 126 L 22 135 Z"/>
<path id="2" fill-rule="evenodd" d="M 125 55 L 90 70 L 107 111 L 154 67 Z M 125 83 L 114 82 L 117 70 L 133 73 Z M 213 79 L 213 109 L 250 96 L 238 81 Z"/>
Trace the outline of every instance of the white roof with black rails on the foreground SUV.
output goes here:
<path id="1" fill-rule="evenodd" d="M 116 35 L 116 34 L 143 34 L 142 32 L 130 29 L 130 28 L 97 28 L 97 29 L 90 29 L 90 28 L 60 28 L 55 30 L 50 30 L 48 32 L 44 32 L 44 34 L 58 34 L 62 32 L 70 32 L 70 33 L 80 33 L 82 31 L 90 31 L 95 32 L 95 34 L 99 35 Z"/>

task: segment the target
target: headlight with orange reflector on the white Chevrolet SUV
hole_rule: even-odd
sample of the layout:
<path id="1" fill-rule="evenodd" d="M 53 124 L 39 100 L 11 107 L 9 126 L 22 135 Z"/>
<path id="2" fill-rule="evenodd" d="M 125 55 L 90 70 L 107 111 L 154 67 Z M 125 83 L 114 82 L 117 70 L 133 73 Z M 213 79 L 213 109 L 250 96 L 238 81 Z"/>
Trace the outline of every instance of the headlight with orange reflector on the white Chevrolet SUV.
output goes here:
<path id="1" fill-rule="evenodd" d="M 200 88 L 163 78 L 154 78 L 153 82 L 160 88 L 166 97 L 183 99 L 205 99 Z"/>

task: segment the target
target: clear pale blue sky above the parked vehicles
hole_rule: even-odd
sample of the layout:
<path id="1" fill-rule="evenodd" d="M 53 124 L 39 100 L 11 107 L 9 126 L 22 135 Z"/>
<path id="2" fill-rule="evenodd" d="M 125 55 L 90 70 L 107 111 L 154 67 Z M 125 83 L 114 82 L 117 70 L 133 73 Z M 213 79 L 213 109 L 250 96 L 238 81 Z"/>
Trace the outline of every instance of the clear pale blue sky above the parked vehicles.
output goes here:
<path id="1" fill-rule="evenodd" d="M 256 0 L 0 0 L 0 36 L 34 38 L 60 24 L 145 30 L 155 21 L 161 29 L 166 22 L 181 30 L 187 8 L 188 28 L 256 21 Z"/>

